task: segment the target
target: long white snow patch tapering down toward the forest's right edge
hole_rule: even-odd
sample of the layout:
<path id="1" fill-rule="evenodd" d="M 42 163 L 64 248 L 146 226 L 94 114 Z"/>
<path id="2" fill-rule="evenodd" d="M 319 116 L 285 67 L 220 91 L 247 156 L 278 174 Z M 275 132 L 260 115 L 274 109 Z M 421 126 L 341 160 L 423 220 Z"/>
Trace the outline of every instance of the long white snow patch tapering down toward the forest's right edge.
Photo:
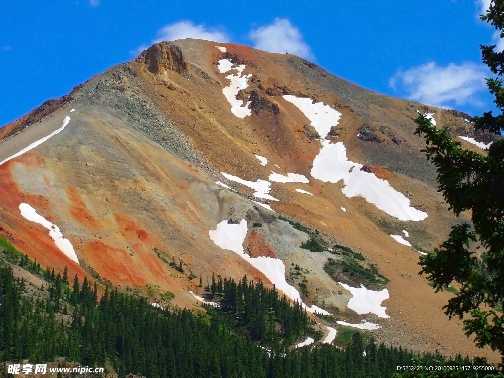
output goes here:
<path id="1" fill-rule="evenodd" d="M 244 219 L 240 221 L 240 224 L 229 224 L 227 223 L 227 220 L 223 220 L 217 224 L 215 230 L 210 230 L 208 234 L 215 245 L 223 249 L 230 249 L 234 251 L 251 266 L 261 271 L 278 290 L 283 292 L 293 301 L 301 303 L 303 308 L 306 308 L 306 311 L 330 315 L 328 311 L 316 305 L 308 307 L 301 301 L 301 297 L 296 288 L 290 286 L 285 280 L 285 265 L 282 260 L 262 256 L 251 258 L 245 254 L 243 251 L 243 240 L 245 240 L 245 236 L 247 234 L 247 222 Z"/>

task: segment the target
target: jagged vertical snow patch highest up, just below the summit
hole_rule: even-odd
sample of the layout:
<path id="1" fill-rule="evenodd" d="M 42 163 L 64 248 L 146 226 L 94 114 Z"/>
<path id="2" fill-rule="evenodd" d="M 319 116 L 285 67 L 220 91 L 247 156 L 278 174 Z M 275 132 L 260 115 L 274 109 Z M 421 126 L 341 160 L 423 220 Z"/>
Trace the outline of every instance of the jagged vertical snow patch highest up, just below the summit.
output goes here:
<path id="1" fill-rule="evenodd" d="M 222 74 L 225 74 L 232 70 L 233 64 L 231 62 L 231 59 L 219 59 L 219 64 L 217 67 Z M 231 112 L 238 118 L 244 118 L 247 115 L 252 114 L 250 109 L 248 108 L 250 101 L 248 101 L 245 106 L 243 106 L 243 101 L 236 99 L 236 95 L 238 94 L 240 89 L 245 89 L 246 87 L 248 87 L 248 78 L 252 76 L 241 76 L 241 73 L 244 69 L 245 65 L 235 67 L 234 70 L 238 71 L 238 73 L 236 75 L 229 74 L 228 76 L 226 76 L 226 79 L 228 79 L 231 83 L 227 87 L 222 88 L 222 92 L 224 93 L 226 100 L 231 104 Z"/>

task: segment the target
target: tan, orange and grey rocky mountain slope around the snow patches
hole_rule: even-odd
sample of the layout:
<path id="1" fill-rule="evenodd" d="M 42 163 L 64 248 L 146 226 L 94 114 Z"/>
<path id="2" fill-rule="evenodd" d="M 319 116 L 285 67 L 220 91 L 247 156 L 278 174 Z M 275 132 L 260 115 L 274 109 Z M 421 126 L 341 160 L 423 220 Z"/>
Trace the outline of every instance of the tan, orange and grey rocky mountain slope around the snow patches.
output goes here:
<path id="1" fill-rule="evenodd" d="M 417 275 L 417 250 L 444 240 L 458 219 L 436 193 L 435 172 L 420 152 L 423 140 L 413 135 L 412 118 L 418 109 L 435 113 L 437 124 L 452 130 L 467 130 L 467 122 L 442 109 L 364 90 L 297 56 L 219 46 L 191 39 L 155 44 L 1 129 L 0 162 L 58 130 L 70 116 L 59 133 L 0 165 L 0 234 L 43 266 L 68 265 L 72 274 L 142 292 L 161 303 L 170 291 L 172 304 L 199 306 L 188 290 L 202 293 L 200 276 L 206 283 L 212 274 L 247 274 L 271 284 L 264 270 L 209 236 L 223 220 L 239 227 L 245 219 L 246 253 L 281 259 L 289 284 L 299 289 L 306 280 L 303 302 L 332 312 L 333 322 L 380 324 L 383 328 L 374 332 L 381 339 L 415 350 L 489 355 L 466 339 L 460 321 L 444 316 L 442 306 L 451 294 L 434 295 Z M 244 69 L 221 73 L 225 62 L 219 59 Z M 231 111 L 223 92 L 229 74 L 246 79 L 234 101 L 249 101 L 250 115 Z M 362 197 L 346 197 L 341 181 L 312 177 L 321 141 L 288 96 L 311 98 L 341 112 L 327 143 L 342 142 L 350 161 L 389 181 L 427 218 L 401 221 Z M 237 111 L 244 108 L 243 103 Z M 268 163 L 263 166 L 255 154 Z M 221 173 L 266 182 L 271 171 L 301 174 L 308 182 L 270 180 L 269 196 L 279 200 L 273 201 L 255 197 L 255 190 Z M 79 264 L 56 247 L 46 228 L 21 215 L 22 203 L 59 227 Z M 365 258 L 362 264 L 375 263 L 390 280 L 390 298 L 382 303 L 390 318 L 347 309 L 352 294 L 337 281 L 351 286 L 361 281 L 328 275 L 324 265 L 335 255 L 327 248 L 301 248 L 308 234 L 278 219 L 279 214 L 309 228 L 327 247 L 346 245 Z M 402 230 L 413 247 L 390 236 Z M 182 262 L 183 273 L 170 266 L 173 261 Z M 302 274 L 292 274 L 296 265 Z"/>

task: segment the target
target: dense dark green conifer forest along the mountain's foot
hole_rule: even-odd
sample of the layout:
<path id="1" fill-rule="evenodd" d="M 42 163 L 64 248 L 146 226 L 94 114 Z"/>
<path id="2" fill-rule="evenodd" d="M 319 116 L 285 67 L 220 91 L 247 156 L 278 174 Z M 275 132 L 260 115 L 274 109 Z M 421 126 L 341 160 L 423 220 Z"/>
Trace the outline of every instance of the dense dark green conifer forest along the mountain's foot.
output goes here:
<path id="1" fill-rule="evenodd" d="M 233 284 L 218 277 L 222 307 L 209 308 L 207 314 L 161 310 L 117 290 L 107 289 L 98 301 L 87 280 L 74 281 L 78 293 L 64 289 L 56 275 L 48 298 L 28 298 L 21 295 L 24 282 L 0 264 L 0 362 L 62 356 L 89 366 L 107 361 L 119 376 L 135 372 L 148 378 L 383 378 L 415 357 L 401 348 L 377 347 L 372 338 L 366 343 L 358 333 L 345 351 L 327 344 L 290 350 L 281 340 L 304 332 L 305 312 L 299 305 L 289 306 L 275 290 L 245 278 Z M 236 295 L 240 290 L 246 301 Z M 76 303 L 64 306 L 71 312 L 67 326 L 55 321 L 53 304 L 70 298 Z M 271 321 L 277 326 L 271 327 Z M 253 340 L 268 333 L 274 339 L 275 332 L 281 337 L 269 343 L 271 353 Z M 436 360 L 445 362 L 438 354 L 418 361 L 435 365 Z M 470 364 L 468 359 L 457 361 Z"/>

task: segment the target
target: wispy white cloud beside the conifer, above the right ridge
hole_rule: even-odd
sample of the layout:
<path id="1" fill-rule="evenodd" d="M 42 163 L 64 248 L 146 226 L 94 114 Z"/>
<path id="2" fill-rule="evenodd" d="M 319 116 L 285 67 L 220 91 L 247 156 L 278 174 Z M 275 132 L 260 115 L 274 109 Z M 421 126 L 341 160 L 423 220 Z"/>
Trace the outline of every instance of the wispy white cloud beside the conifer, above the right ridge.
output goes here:
<path id="1" fill-rule="evenodd" d="M 429 62 L 407 71 L 399 70 L 390 79 L 390 86 L 406 97 L 427 105 L 447 107 L 449 104 L 480 105 L 476 94 L 486 89 L 485 66 L 473 62 L 439 67 Z"/>

